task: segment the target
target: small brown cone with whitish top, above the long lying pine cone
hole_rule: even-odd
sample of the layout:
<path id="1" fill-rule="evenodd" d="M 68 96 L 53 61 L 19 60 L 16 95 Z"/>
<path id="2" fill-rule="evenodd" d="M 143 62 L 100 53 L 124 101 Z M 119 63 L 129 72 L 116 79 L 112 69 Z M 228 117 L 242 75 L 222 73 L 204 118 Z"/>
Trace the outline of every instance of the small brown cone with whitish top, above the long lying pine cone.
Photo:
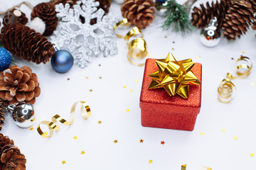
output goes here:
<path id="1" fill-rule="evenodd" d="M 10 23 L 22 23 L 23 25 L 25 25 L 26 23 L 28 23 L 28 18 L 26 18 L 25 13 L 18 11 L 17 9 L 14 9 L 14 10 L 8 11 L 6 13 L 6 16 L 4 16 L 3 18 L 4 26 Z"/>

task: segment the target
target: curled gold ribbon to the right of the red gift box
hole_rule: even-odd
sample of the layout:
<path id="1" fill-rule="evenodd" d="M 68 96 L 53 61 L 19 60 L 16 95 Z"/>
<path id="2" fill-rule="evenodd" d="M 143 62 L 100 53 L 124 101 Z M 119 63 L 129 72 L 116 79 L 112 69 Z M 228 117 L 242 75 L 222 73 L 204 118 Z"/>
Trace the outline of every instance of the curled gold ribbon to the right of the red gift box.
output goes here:
<path id="1" fill-rule="evenodd" d="M 218 100 L 222 103 L 230 103 L 230 101 L 233 101 L 236 94 L 236 88 L 231 80 L 245 79 L 250 76 L 251 70 L 252 62 L 250 61 L 250 58 L 241 55 L 235 62 L 235 72 L 238 76 L 233 77 L 230 73 L 226 74 L 226 79 L 223 79 L 218 86 Z"/>

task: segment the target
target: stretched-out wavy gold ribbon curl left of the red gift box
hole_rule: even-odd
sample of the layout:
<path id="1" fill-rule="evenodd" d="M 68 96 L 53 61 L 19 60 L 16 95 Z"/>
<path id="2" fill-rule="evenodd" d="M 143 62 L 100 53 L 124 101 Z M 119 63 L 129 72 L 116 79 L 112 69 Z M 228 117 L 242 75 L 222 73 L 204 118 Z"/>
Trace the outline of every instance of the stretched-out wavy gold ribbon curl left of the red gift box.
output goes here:
<path id="1" fill-rule="evenodd" d="M 39 123 L 37 130 L 39 135 L 41 135 L 42 137 L 50 137 L 53 135 L 53 130 L 55 132 L 57 132 L 60 129 L 60 126 L 58 125 L 58 121 L 60 123 L 63 123 L 64 125 L 71 125 L 74 123 L 74 119 L 75 119 L 75 107 L 78 105 L 78 103 L 82 103 L 82 106 L 80 108 L 80 113 L 82 115 L 82 118 L 87 119 L 90 117 L 91 115 L 91 111 L 90 111 L 90 107 L 88 106 L 88 104 L 85 101 L 78 101 L 75 102 L 71 108 L 70 111 L 70 122 L 68 122 L 67 120 L 65 120 L 64 118 L 62 118 L 60 115 L 54 115 L 52 118 L 52 122 L 47 121 L 47 120 L 43 120 L 41 121 L 41 123 Z M 46 132 L 43 132 L 43 130 L 41 130 L 41 125 L 47 125 L 48 129 L 50 131 L 50 134 L 48 135 Z"/>

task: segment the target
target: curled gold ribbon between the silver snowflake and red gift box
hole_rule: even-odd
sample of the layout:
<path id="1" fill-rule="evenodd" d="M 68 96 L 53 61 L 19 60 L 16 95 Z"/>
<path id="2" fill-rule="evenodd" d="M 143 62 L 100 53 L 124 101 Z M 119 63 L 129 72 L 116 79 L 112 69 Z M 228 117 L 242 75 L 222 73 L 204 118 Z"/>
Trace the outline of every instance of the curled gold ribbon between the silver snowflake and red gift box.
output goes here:
<path id="1" fill-rule="evenodd" d="M 124 40 L 127 42 L 128 45 L 128 53 L 127 53 L 127 59 L 129 60 L 130 63 L 136 66 L 144 66 L 144 63 L 137 63 L 134 62 L 134 60 L 142 60 L 144 59 L 147 55 L 147 47 L 146 47 L 146 41 L 143 38 L 142 31 L 134 27 L 132 30 L 129 30 L 129 32 L 126 35 L 120 35 L 115 32 L 115 30 L 122 26 L 130 26 L 131 23 L 127 20 L 127 18 L 124 18 L 122 21 L 119 21 L 115 26 L 114 26 L 114 34 L 117 35 L 118 38 L 124 38 Z M 135 37 L 137 35 L 140 35 L 140 38 L 134 39 L 129 42 L 129 39 L 132 37 Z"/>

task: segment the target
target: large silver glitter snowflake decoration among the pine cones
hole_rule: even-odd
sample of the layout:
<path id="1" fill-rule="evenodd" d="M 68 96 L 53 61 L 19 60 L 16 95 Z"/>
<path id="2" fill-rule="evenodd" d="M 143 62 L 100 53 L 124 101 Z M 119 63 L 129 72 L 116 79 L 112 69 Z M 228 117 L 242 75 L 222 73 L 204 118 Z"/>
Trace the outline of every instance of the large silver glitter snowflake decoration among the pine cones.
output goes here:
<path id="1" fill-rule="evenodd" d="M 91 62 L 92 56 L 103 52 L 104 56 L 117 55 L 117 44 L 112 41 L 114 36 L 113 26 L 119 18 L 111 13 L 105 16 L 102 8 L 95 0 L 82 0 L 70 8 L 70 4 L 55 6 L 57 16 L 61 21 L 58 28 L 51 36 L 51 41 L 58 47 L 67 46 L 75 62 L 82 68 Z M 85 18 L 81 23 L 80 17 Z M 92 19 L 97 18 L 97 23 L 90 25 Z"/>

